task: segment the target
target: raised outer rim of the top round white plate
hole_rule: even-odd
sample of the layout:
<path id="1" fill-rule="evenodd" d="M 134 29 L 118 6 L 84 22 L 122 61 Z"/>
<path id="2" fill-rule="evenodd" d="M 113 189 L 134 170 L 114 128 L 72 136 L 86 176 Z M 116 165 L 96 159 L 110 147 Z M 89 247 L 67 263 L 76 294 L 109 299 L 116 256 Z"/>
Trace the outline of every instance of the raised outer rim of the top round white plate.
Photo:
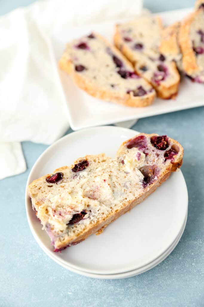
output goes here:
<path id="1" fill-rule="evenodd" d="M 63 142 L 64 140 L 65 140 L 65 138 L 69 138 L 70 137 L 70 135 L 72 134 L 81 134 L 81 133 L 83 133 L 83 132 L 86 132 L 86 131 L 90 131 L 90 130 L 94 130 L 95 131 L 95 133 L 96 133 L 96 130 L 108 130 L 109 131 L 109 129 L 113 129 L 113 130 L 120 130 L 120 133 L 122 133 L 122 131 L 124 131 L 124 132 L 130 132 L 131 131 L 131 133 L 133 133 L 134 132 L 134 134 L 135 135 L 137 135 L 139 132 L 138 131 L 135 131 L 135 130 L 132 130 L 132 129 L 128 129 L 128 128 L 123 128 L 123 127 L 117 127 L 117 126 L 97 126 L 97 127 L 91 127 L 91 128 L 87 128 L 87 129 L 83 129 L 83 130 L 80 130 L 80 131 L 74 131 L 74 132 L 72 132 L 72 133 L 70 133 L 70 134 L 67 134 L 67 135 L 65 135 L 64 137 L 62 137 L 62 138 L 60 138 L 59 140 L 57 140 L 56 142 L 54 142 L 52 145 L 50 145 L 43 153 L 41 153 L 41 155 L 38 157 L 38 159 L 36 160 L 36 162 L 34 163 L 34 165 L 32 166 L 32 169 L 30 170 L 30 173 L 29 173 L 29 175 L 28 175 L 28 180 L 27 180 L 27 184 L 26 184 L 26 190 L 25 190 L 25 206 L 26 206 L 26 216 L 27 216 L 27 220 L 28 220 L 28 224 L 29 224 L 29 227 L 30 227 L 30 229 L 31 229 L 31 231 L 32 231 L 32 234 L 33 234 L 33 236 L 34 236 L 34 238 L 35 238 L 35 240 L 37 241 L 37 243 L 39 244 L 39 246 L 43 249 L 43 251 L 45 251 L 46 252 L 46 254 L 48 255 L 48 256 L 50 256 L 50 253 L 52 253 L 45 245 L 44 245 L 44 243 L 43 242 L 41 242 L 41 239 L 40 239 L 40 237 L 36 234 L 36 232 L 35 232 L 35 229 L 34 229 L 34 227 L 33 227 L 33 225 L 32 225 L 32 219 L 31 219 L 31 217 L 30 217 L 30 215 L 29 215 L 29 212 L 28 212 L 28 206 L 30 206 L 30 200 L 29 200 L 29 196 L 28 196 L 28 193 L 27 193 L 27 190 L 28 190 L 28 185 L 30 184 L 30 182 L 31 182 L 31 177 L 32 177 L 32 172 L 33 172 L 33 170 L 35 170 L 35 167 L 36 167 L 36 165 L 38 164 L 38 162 L 44 157 L 44 155 L 46 155 L 46 153 L 48 152 L 48 151 L 50 151 L 51 149 L 52 149 L 52 147 L 54 147 L 54 146 L 56 146 L 58 143 L 60 143 L 60 142 Z M 183 173 L 181 172 L 181 170 L 179 171 L 180 173 L 181 173 L 181 176 L 182 176 L 182 179 L 183 179 L 183 181 L 184 181 L 184 186 L 185 186 L 185 196 L 186 196 L 186 214 L 187 214 L 187 210 L 188 210 L 188 192 L 187 192 L 187 186 L 186 186 L 186 182 L 185 182 L 185 179 L 184 179 L 184 176 L 183 176 Z M 185 220 L 185 216 L 184 216 L 184 219 L 183 219 L 183 222 L 184 222 L 184 220 Z M 183 224 L 182 224 L 183 225 Z M 173 240 L 173 242 L 174 242 L 174 240 Z M 171 242 L 170 243 L 170 245 L 173 243 L 173 242 Z M 169 247 L 167 247 L 166 249 L 168 249 Z M 163 251 L 162 253 L 160 253 L 156 258 L 158 258 L 160 255 L 162 255 L 163 253 L 164 253 L 165 251 Z M 57 255 L 56 255 L 57 256 Z M 59 259 L 59 257 L 56 257 L 56 256 L 54 256 L 54 255 L 52 255 L 52 257 L 50 257 L 50 258 L 52 258 L 55 262 L 61 262 L 61 265 L 62 264 L 64 264 L 64 266 L 68 266 L 68 264 L 67 264 L 67 261 L 66 260 L 64 260 L 64 259 L 60 259 L 60 260 L 58 260 Z M 154 261 L 156 258 L 154 258 L 152 261 Z M 152 262 L 151 261 L 151 262 Z M 148 262 L 149 263 L 149 262 Z M 148 263 L 146 263 L 145 265 L 148 265 Z M 75 270 L 80 270 L 80 268 L 79 268 L 79 266 L 76 266 L 76 265 L 72 265 L 72 264 L 70 264 L 69 263 L 69 267 L 72 267 L 73 269 L 75 269 Z M 143 266 L 142 266 L 143 267 Z M 136 268 L 135 270 L 137 270 L 137 269 L 139 269 L 139 267 L 138 268 Z M 132 270 L 134 270 L 134 269 L 132 269 Z M 131 271 L 132 271 L 131 270 Z M 107 272 L 105 272 L 105 273 L 101 273 L 101 270 L 93 270 L 93 272 L 90 272 L 90 270 L 88 270 L 88 269 L 83 269 L 83 270 L 80 270 L 80 271 L 83 271 L 83 272 L 87 272 L 87 273 L 90 273 L 90 274 L 102 274 L 102 275 L 104 275 L 104 274 L 122 274 L 123 273 L 123 271 L 121 271 L 121 272 L 118 272 L 118 273 L 107 273 Z M 109 270 L 110 271 L 110 270 Z M 111 272 L 111 271 L 110 271 Z"/>

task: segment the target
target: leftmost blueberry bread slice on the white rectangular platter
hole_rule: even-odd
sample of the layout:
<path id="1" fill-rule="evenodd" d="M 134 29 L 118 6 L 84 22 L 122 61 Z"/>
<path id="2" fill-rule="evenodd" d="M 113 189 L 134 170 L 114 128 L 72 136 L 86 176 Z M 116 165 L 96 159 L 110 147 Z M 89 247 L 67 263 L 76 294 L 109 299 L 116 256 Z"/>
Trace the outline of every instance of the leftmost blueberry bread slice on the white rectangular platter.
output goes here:
<path id="1" fill-rule="evenodd" d="M 70 42 L 59 66 L 96 98 L 131 107 L 146 107 L 154 100 L 153 87 L 97 33 Z"/>

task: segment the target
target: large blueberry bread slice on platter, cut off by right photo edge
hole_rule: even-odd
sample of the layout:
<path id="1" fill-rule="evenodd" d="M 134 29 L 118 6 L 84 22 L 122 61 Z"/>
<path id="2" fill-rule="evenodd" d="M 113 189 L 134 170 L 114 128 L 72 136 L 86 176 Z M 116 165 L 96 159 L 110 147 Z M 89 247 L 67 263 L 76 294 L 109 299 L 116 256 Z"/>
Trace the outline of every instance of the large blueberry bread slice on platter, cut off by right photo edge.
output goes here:
<path id="1" fill-rule="evenodd" d="M 204 83 L 204 7 L 182 22 L 179 31 L 182 67 L 192 81 Z"/>

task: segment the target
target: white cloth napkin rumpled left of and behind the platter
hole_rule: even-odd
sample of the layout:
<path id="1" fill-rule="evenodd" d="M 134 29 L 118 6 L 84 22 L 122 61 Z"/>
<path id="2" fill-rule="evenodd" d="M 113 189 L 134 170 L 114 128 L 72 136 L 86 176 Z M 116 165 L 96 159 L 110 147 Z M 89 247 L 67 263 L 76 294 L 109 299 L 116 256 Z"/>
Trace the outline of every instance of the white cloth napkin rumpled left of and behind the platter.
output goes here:
<path id="1" fill-rule="evenodd" d="M 44 0 L 0 18 L 0 179 L 26 169 L 18 142 L 50 144 L 69 128 L 51 35 L 141 10 L 142 0 Z"/>

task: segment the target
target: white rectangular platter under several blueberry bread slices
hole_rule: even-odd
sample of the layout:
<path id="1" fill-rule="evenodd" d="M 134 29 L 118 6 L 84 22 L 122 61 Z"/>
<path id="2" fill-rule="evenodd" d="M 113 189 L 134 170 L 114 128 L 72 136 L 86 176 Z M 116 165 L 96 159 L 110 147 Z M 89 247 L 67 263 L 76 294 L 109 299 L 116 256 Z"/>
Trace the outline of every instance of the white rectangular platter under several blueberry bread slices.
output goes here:
<path id="1" fill-rule="evenodd" d="M 158 13 L 158 15 L 161 16 L 164 25 L 169 25 L 174 21 L 181 20 L 191 11 L 192 9 L 182 9 Z M 60 29 L 59 33 L 54 33 L 52 36 L 52 48 L 54 50 L 56 65 L 68 41 L 87 35 L 92 31 L 98 32 L 109 41 L 112 41 L 114 25 L 117 22 L 120 21 L 108 21 L 72 29 L 65 28 Z M 204 105 L 204 85 L 192 83 L 188 78 L 184 78 L 181 81 L 179 93 L 176 99 L 162 100 L 157 98 L 149 107 L 133 108 L 93 98 L 79 89 L 65 72 L 58 71 L 58 73 L 61 81 L 63 97 L 67 105 L 69 124 L 73 130 L 143 118 Z"/>

